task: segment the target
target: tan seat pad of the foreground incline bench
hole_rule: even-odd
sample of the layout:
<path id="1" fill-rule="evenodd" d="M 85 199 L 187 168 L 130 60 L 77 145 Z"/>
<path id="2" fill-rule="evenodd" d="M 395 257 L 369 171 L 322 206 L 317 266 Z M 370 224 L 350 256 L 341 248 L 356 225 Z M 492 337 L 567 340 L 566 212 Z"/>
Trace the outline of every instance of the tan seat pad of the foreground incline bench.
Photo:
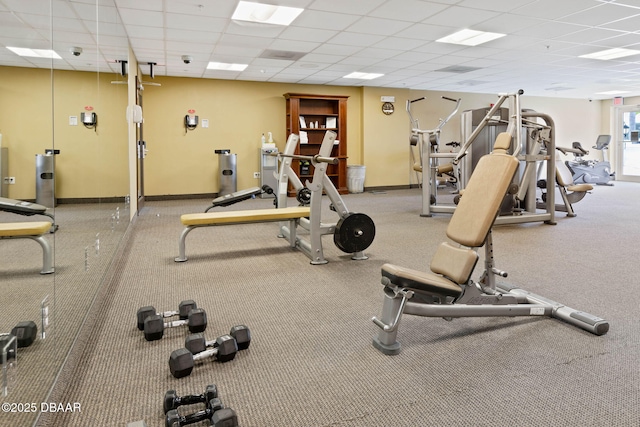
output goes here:
<path id="1" fill-rule="evenodd" d="M 460 285 L 431 272 L 384 264 L 382 266 L 382 276 L 402 288 L 451 297 L 458 297 L 462 294 Z"/>

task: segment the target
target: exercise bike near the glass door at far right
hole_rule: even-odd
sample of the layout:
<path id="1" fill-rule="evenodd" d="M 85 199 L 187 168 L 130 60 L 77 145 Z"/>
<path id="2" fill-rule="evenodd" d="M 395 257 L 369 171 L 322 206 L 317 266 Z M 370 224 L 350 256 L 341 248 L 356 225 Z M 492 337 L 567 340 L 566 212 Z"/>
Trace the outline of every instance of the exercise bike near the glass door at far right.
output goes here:
<path id="1" fill-rule="evenodd" d="M 586 160 L 584 156 L 589 154 L 587 150 L 582 148 L 579 142 L 572 144 L 572 149 L 562 149 L 564 154 L 573 153 L 574 161 L 566 161 L 565 164 L 573 174 L 573 181 L 576 184 L 597 184 L 597 185 L 613 185 L 616 179 L 615 172 L 611 172 L 611 163 L 609 163 L 609 143 L 611 135 L 599 135 L 596 145 L 592 148 L 602 151 L 602 161 Z"/>

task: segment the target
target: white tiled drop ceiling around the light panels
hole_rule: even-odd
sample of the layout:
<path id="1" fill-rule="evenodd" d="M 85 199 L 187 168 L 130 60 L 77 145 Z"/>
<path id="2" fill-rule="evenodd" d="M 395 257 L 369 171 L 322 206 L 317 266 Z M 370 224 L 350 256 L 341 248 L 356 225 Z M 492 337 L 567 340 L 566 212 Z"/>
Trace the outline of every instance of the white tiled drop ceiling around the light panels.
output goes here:
<path id="1" fill-rule="evenodd" d="M 304 11 L 284 27 L 232 21 L 237 0 L 100 0 L 96 23 L 95 0 L 53 0 L 57 30 L 52 43 L 48 0 L 0 0 L 0 65 L 48 68 L 53 63 L 59 69 L 118 73 L 119 66 L 108 61 L 126 58 L 130 44 L 139 60 L 158 63 L 158 75 L 464 91 L 522 87 L 527 94 L 583 97 L 593 97 L 590 91 L 596 87 L 640 86 L 638 56 L 579 58 L 605 48 L 640 48 L 640 0 L 278 3 Z M 462 26 L 507 35 L 477 47 L 435 42 Z M 53 45 L 64 59 L 20 58 L 5 49 L 11 45 Z M 69 54 L 75 45 L 83 45 L 79 58 Z M 298 60 L 261 57 L 267 50 L 306 55 Z M 182 62 L 185 54 L 193 57 L 191 64 Z M 250 66 L 244 72 L 217 72 L 206 70 L 210 60 Z M 457 65 L 480 69 L 436 71 Z M 342 78 L 353 71 L 384 76 Z M 568 89 L 571 84 L 579 87 Z"/>

